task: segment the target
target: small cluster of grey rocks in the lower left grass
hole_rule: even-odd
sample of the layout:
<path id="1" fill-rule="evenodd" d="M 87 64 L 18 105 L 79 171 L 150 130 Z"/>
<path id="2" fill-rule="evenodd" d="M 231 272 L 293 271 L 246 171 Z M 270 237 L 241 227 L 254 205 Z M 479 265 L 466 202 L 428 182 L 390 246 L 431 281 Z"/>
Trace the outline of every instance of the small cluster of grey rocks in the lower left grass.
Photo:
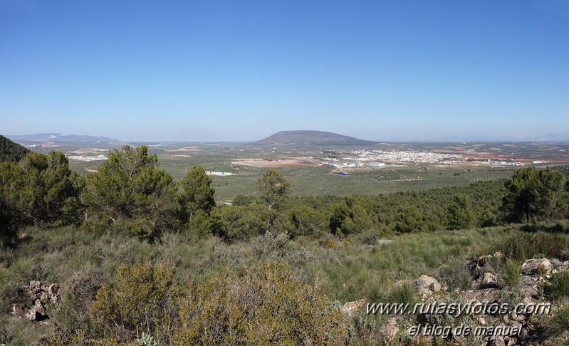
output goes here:
<path id="1" fill-rule="evenodd" d="M 61 289 L 56 283 L 42 285 L 41 281 L 30 281 L 29 285 L 22 287 L 26 295 L 26 303 L 14 303 L 12 314 L 27 318 L 31 321 L 41 321 L 48 318 L 46 309 L 48 305 L 56 308 L 61 303 Z"/>

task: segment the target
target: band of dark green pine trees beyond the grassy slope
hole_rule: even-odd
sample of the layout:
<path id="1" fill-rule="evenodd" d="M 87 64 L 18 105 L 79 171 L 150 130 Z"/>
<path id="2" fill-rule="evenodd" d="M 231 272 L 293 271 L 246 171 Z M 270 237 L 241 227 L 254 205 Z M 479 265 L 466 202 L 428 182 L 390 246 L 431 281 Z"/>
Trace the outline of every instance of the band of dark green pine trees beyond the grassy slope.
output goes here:
<path id="1" fill-rule="evenodd" d="M 80 177 L 61 152 L 27 152 L 0 162 L 1 238 L 32 224 L 69 224 L 153 240 L 164 232 L 227 241 L 287 232 L 289 236 L 369 236 L 467 229 L 508 222 L 553 221 L 568 213 L 568 174 L 518 169 L 506 182 L 478 182 L 427 192 L 377 196 L 292 197 L 281 172 L 256 182 L 259 196 L 216 206 L 212 179 L 197 165 L 180 182 L 160 169 L 147 147 L 114 150 L 97 172 Z"/>

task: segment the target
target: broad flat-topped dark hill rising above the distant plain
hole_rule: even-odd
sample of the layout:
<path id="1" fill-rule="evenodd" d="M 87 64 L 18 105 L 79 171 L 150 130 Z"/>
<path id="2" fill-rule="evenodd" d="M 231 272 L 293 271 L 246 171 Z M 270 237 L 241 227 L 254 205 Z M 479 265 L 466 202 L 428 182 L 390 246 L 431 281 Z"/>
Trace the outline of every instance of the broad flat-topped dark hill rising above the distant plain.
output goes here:
<path id="1" fill-rule="evenodd" d="M 375 145 L 377 142 L 325 131 L 281 131 L 253 145 Z"/>

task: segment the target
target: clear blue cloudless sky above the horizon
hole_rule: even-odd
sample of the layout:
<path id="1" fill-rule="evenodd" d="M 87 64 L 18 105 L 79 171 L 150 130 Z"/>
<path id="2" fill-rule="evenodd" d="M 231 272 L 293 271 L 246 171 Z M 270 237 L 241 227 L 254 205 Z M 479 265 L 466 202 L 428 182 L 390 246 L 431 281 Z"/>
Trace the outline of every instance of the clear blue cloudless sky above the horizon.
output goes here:
<path id="1" fill-rule="evenodd" d="M 569 1 L 0 0 L 0 134 L 569 132 Z"/>

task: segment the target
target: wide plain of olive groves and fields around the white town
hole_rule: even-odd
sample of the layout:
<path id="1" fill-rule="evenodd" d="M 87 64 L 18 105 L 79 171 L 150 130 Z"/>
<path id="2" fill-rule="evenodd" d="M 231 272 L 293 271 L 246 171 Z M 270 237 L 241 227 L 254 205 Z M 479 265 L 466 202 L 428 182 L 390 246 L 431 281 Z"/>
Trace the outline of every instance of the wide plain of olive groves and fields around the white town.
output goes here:
<path id="1" fill-rule="evenodd" d="M 58 143 L 32 147 L 61 150 L 79 174 L 93 172 L 101 155 L 123 143 Z M 148 145 L 160 167 L 182 179 L 202 164 L 212 176 L 216 201 L 254 196 L 268 168 L 291 182 L 293 196 L 389 194 L 466 186 L 511 177 L 523 166 L 569 163 L 569 145 L 543 142 L 378 143 L 367 147 L 254 147 L 246 143 L 129 143 Z M 343 175 L 337 175 L 338 173 Z"/>

